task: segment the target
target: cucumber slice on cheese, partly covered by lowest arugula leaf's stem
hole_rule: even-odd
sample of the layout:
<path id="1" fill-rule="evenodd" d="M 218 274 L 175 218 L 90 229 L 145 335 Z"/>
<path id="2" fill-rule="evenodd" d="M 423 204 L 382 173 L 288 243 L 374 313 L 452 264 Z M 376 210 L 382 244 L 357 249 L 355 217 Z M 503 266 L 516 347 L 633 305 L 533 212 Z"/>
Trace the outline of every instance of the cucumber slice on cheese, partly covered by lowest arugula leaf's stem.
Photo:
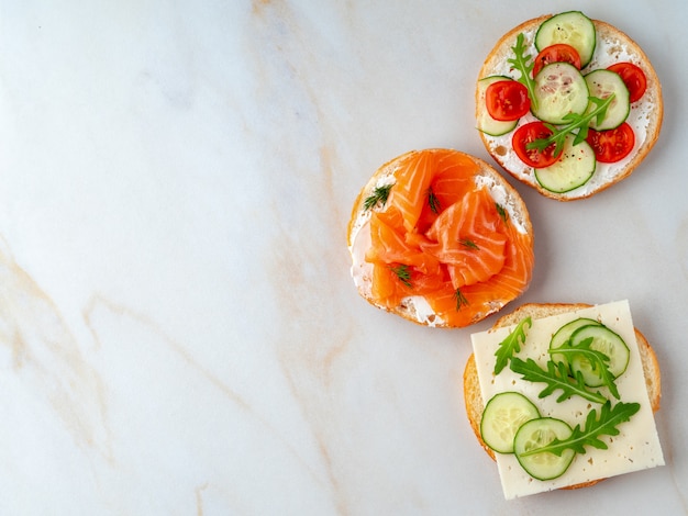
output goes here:
<path id="1" fill-rule="evenodd" d="M 564 450 L 562 456 L 550 451 L 542 451 L 523 456 L 526 451 L 536 450 L 548 445 L 555 438 L 567 439 L 573 434 L 568 424 L 553 417 L 532 419 L 517 431 L 513 439 L 513 451 L 521 467 L 534 479 L 552 480 L 562 476 L 568 469 L 576 452 L 572 449 Z"/>

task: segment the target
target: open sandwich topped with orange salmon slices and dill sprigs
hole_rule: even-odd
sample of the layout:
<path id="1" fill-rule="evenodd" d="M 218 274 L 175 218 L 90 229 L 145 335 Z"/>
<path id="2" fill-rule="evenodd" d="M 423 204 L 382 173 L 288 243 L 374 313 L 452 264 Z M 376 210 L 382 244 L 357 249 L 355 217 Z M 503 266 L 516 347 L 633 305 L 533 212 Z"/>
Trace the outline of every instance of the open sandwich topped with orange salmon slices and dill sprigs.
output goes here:
<path id="1" fill-rule="evenodd" d="M 347 233 L 359 294 L 418 324 L 476 323 L 531 281 L 523 200 L 487 162 L 458 150 L 414 150 L 381 166 L 358 194 Z"/>

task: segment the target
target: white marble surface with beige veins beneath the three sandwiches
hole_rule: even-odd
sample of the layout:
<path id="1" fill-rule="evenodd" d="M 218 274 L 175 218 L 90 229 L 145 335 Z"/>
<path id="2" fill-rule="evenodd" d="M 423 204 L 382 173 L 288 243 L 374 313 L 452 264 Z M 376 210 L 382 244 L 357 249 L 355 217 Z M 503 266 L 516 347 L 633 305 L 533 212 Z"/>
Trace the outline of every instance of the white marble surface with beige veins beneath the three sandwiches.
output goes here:
<path id="1" fill-rule="evenodd" d="M 687 5 L 0 1 L 0 514 L 686 514 Z M 460 386 L 492 319 L 370 307 L 345 226 L 406 150 L 486 157 L 486 53 L 572 8 L 644 47 L 665 123 L 593 199 L 518 187 L 521 301 L 630 300 L 667 465 L 507 503 Z"/>

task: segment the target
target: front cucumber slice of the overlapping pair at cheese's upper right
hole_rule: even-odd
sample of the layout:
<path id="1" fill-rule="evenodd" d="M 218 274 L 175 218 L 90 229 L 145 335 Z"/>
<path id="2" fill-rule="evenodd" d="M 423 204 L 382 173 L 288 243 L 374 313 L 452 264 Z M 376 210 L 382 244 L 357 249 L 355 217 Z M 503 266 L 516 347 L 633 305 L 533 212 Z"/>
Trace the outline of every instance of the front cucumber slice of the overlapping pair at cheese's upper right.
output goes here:
<path id="1" fill-rule="evenodd" d="M 614 378 L 623 374 L 631 358 L 631 351 L 623 339 L 603 325 L 584 326 L 574 332 L 570 338 L 573 346 L 577 346 L 582 340 L 590 337 L 592 337 L 590 348 L 609 357 L 609 362 L 607 363 L 609 372 L 611 372 Z M 574 374 L 577 374 L 578 371 L 582 373 L 582 380 L 586 385 L 603 385 L 600 372 L 597 369 L 592 370 L 592 364 L 586 357 L 574 357 L 570 360 L 570 369 Z"/>

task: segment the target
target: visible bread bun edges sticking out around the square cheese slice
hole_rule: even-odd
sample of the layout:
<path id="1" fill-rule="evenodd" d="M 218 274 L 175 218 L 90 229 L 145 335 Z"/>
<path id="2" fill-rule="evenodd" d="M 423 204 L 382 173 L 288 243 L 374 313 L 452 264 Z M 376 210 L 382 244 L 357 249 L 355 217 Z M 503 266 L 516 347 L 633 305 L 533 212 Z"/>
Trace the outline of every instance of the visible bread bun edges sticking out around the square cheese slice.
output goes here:
<path id="1" fill-rule="evenodd" d="M 531 316 L 533 319 L 548 317 L 551 315 L 558 315 L 575 310 L 581 310 L 590 307 L 590 304 L 585 303 L 528 303 L 519 306 L 515 311 L 503 315 L 498 318 L 492 328 L 500 328 L 503 326 L 511 326 L 518 324 L 523 317 Z M 662 397 L 662 378 L 659 373 L 659 362 L 655 355 L 654 349 L 645 338 L 645 336 L 635 328 L 635 338 L 637 340 L 637 348 L 641 355 L 641 361 L 643 362 L 643 372 L 645 374 L 645 383 L 647 384 L 647 395 L 650 397 L 650 404 L 653 412 L 659 410 L 659 402 Z M 480 420 L 482 419 L 482 411 L 485 408 L 485 402 L 480 394 L 480 382 L 478 380 L 478 369 L 476 367 L 475 356 L 471 354 L 466 362 L 464 369 L 464 402 L 466 404 L 466 415 L 470 428 L 480 442 L 480 446 L 485 451 L 495 460 L 495 451 L 488 447 L 482 437 L 480 436 Z M 564 487 L 567 490 L 587 487 L 593 485 L 604 479 L 593 480 L 581 484 L 570 485 Z"/>

